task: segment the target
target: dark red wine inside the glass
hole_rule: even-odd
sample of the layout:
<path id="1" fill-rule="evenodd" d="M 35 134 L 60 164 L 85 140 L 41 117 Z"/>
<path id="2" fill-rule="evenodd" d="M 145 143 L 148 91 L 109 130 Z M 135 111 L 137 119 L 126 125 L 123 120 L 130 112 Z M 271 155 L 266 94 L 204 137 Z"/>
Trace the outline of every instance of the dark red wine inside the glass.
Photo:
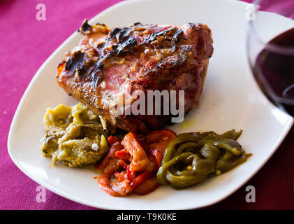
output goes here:
<path id="1" fill-rule="evenodd" d="M 294 49 L 294 28 L 273 38 L 268 44 L 272 43 Z M 267 98 L 294 116 L 294 52 L 274 52 L 267 50 L 266 45 L 256 57 L 253 74 Z"/>

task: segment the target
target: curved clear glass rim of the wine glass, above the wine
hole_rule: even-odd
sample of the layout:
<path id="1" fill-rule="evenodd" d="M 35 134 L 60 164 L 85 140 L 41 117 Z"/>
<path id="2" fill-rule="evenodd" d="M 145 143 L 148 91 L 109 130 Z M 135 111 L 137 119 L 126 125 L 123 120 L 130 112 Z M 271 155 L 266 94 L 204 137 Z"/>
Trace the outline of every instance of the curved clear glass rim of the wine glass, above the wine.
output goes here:
<path id="1" fill-rule="evenodd" d="M 260 1 L 263 0 L 253 0 L 253 2 L 251 4 L 253 4 L 253 9 L 255 10 L 255 12 L 257 13 L 257 6 L 258 3 L 260 3 Z M 249 34 L 251 36 L 253 36 L 254 38 L 256 38 L 256 40 L 261 43 L 262 45 L 265 45 L 265 49 L 270 50 L 272 52 L 277 52 L 279 54 L 289 54 L 289 55 L 294 55 L 294 47 L 287 47 L 284 45 L 278 45 L 278 44 L 274 44 L 274 43 L 267 43 L 266 41 L 263 41 L 263 39 L 260 37 L 260 35 L 258 34 L 258 32 L 256 31 L 256 29 L 253 26 L 253 20 L 248 20 L 249 23 Z M 294 27 L 293 27 L 294 28 Z"/>

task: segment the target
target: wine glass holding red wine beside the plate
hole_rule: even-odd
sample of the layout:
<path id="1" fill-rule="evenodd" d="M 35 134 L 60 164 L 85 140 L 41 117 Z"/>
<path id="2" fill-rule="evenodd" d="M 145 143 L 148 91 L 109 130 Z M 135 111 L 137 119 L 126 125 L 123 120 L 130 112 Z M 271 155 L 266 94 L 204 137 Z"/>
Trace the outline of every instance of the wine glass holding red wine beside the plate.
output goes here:
<path id="1" fill-rule="evenodd" d="M 270 102 L 294 116 L 294 0 L 255 0 L 248 9 L 253 76 Z"/>

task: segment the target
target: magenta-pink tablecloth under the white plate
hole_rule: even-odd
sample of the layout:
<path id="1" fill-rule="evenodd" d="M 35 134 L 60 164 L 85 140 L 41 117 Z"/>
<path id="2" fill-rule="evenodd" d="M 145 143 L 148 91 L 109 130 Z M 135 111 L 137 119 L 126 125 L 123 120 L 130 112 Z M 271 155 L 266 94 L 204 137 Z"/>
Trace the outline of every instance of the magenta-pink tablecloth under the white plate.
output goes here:
<path id="1" fill-rule="evenodd" d="M 49 190 L 46 202 L 37 202 L 38 183 L 13 164 L 6 142 L 17 104 L 41 64 L 84 18 L 92 18 L 118 1 L 0 1 L 0 209 L 93 209 Z M 38 3 L 45 3 L 45 21 L 36 20 Z M 293 137 L 293 132 L 288 134 L 277 153 L 249 183 L 207 209 L 294 209 Z M 245 200 L 249 185 L 256 188 L 256 203 Z"/>

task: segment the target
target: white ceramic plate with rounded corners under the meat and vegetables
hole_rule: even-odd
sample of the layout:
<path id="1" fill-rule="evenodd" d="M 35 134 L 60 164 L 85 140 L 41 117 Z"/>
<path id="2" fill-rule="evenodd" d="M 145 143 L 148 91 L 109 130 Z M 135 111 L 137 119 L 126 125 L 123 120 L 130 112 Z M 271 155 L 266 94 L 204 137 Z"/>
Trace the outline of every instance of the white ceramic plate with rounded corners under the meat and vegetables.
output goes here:
<path id="1" fill-rule="evenodd" d="M 251 76 L 245 50 L 246 6 L 247 3 L 225 0 L 124 1 L 90 21 L 110 27 L 138 21 L 207 24 L 212 29 L 215 50 L 200 108 L 189 113 L 184 125 L 170 128 L 178 134 L 210 130 L 220 133 L 232 128 L 243 130 L 240 144 L 248 153 L 253 153 L 243 165 L 185 190 L 161 186 L 149 195 L 123 198 L 111 197 L 98 188 L 93 179 L 97 174 L 93 170 L 71 169 L 64 165 L 49 169 L 50 159 L 41 157 L 38 146 L 44 134 L 42 118 L 47 107 L 76 103 L 57 86 L 54 74 L 66 50 L 78 45 L 81 36 L 77 33 L 47 59 L 24 93 L 10 128 L 10 157 L 24 174 L 48 190 L 101 209 L 193 209 L 228 197 L 267 162 L 293 123 L 291 117 L 267 102 Z"/>

